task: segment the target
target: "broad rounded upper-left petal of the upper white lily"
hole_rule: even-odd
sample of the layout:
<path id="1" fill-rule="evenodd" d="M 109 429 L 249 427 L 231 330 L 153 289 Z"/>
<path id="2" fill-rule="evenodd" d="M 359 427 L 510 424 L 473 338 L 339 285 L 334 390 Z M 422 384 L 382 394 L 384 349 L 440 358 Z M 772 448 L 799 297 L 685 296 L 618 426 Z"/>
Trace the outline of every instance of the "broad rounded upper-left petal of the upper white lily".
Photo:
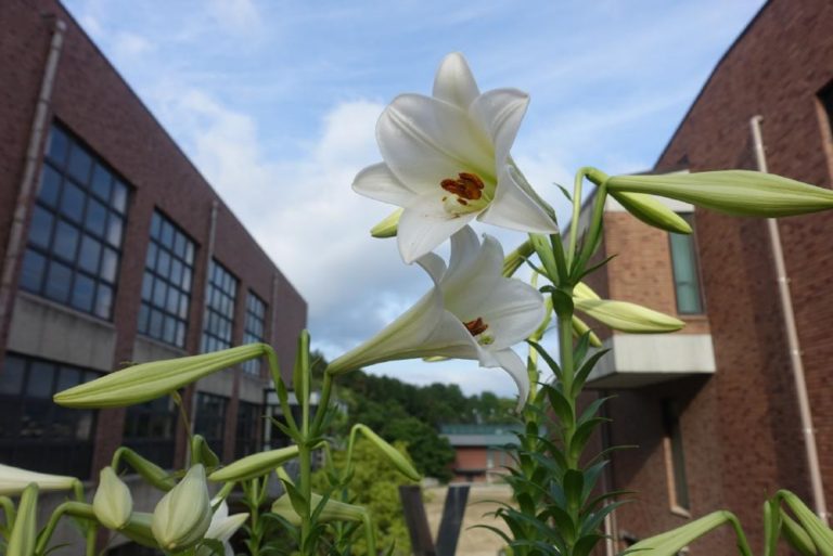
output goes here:
<path id="1" fill-rule="evenodd" d="M 390 170 L 421 193 L 441 193 L 440 182 L 474 172 L 495 182 L 495 151 L 465 111 L 421 94 L 394 99 L 376 124 L 379 150 Z"/>

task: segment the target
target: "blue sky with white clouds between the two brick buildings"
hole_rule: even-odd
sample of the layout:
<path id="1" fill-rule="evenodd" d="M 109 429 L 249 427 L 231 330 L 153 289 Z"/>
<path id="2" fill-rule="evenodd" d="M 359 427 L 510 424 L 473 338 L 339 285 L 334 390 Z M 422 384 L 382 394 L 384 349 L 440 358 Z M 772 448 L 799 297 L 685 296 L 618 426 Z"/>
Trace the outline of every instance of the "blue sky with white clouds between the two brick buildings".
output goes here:
<path id="1" fill-rule="evenodd" d="M 356 195 L 381 161 L 375 121 L 397 94 L 431 94 L 462 52 L 482 91 L 530 105 L 512 154 L 539 193 L 581 166 L 649 169 L 762 0 L 64 0 L 309 303 L 333 359 L 371 337 L 431 281 L 369 229 L 394 207 Z M 505 251 L 524 235 L 487 227 Z M 447 256 L 447 250 L 440 249 Z M 279 308 L 280 309 L 280 308 Z M 518 349 L 518 352 L 523 352 Z M 413 384 L 514 396 L 475 362 L 369 368 Z"/>

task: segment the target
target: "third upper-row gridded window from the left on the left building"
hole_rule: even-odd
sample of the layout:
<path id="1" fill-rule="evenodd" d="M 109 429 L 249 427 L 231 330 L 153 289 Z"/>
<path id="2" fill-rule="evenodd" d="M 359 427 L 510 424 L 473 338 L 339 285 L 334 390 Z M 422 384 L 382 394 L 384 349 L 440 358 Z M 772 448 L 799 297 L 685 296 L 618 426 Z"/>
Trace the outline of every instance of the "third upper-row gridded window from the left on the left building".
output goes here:
<path id="1" fill-rule="evenodd" d="M 208 288 L 205 294 L 203 353 L 231 347 L 234 327 L 234 297 L 238 279 L 222 264 L 212 260 L 208 266 Z"/>

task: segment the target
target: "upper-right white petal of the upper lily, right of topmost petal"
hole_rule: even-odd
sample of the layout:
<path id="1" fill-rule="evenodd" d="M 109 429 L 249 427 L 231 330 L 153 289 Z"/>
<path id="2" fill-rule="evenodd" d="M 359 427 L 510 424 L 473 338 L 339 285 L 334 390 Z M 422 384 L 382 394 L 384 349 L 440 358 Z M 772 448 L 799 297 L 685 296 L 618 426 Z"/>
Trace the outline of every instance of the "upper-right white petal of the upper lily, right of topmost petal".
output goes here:
<path id="1" fill-rule="evenodd" d="M 529 105 L 529 95 L 517 89 L 485 92 L 469 107 L 469 114 L 488 133 L 495 145 L 495 164 L 502 167 L 515 142 L 521 121 Z"/>

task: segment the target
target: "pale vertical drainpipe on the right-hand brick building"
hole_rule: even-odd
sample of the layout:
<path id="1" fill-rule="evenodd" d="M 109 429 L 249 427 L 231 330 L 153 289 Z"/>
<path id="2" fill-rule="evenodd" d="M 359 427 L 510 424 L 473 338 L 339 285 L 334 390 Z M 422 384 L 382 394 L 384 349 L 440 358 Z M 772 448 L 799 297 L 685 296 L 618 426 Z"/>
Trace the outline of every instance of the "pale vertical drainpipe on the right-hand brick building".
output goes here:
<path id="1" fill-rule="evenodd" d="M 760 132 L 760 122 L 762 116 L 753 116 L 749 120 L 752 127 L 752 139 L 755 145 L 755 158 L 758 164 L 758 170 L 766 172 L 767 156 L 764 152 L 764 139 Z M 767 219 L 767 229 L 769 231 L 770 248 L 772 259 L 776 262 L 776 273 L 778 275 L 778 293 L 781 298 L 781 308 L 784 311 L 784 328 L 786 329 L 786 340 L 790 348 L 790 363 L 793 368 L 793 380 L 795 383 L 795 393 L 798 401 L 798 411 L 802 418 L 802 431 L 804 432 L 804 447 L 807 455 L 807 467 L 810 471 L 810 488 L 812 490 L 812 502 L 816 507 L 816 514 L 826 523 L 828 505 L 824 500 L 824 488 L 821 480 L 821 468 L 819 466 L 819 454 L 816 449 L 816 430 L 812 427 L 812 414 L 810 413 L 810 400 L 807 396 L 807 383 L 804 378 L 804 362 L 802 361 L 800 345 L 798 342 L 798 331 L 795 325 L 795 312 L 793 310 L 793 300 L 790 295 L 790 279 L 786 275 L 786 266 L 784 264 L 784 251 L 781 246 L 781 235 L 778 231 L 778 223 L 774 219 Z"/>

